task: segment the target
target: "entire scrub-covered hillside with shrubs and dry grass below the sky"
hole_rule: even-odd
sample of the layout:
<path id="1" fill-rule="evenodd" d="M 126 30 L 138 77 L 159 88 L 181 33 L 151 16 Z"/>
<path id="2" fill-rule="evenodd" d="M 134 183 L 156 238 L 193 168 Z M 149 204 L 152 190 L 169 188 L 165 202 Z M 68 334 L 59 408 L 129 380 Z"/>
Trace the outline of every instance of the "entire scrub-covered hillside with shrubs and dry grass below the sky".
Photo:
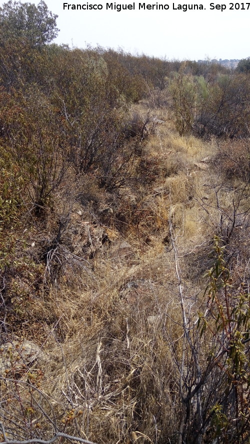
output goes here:
<path id="1" fill-rule="evenodd" d="M 0 441 L 249 443 L 249 70 L 57 31 L 0 8 Z"/>

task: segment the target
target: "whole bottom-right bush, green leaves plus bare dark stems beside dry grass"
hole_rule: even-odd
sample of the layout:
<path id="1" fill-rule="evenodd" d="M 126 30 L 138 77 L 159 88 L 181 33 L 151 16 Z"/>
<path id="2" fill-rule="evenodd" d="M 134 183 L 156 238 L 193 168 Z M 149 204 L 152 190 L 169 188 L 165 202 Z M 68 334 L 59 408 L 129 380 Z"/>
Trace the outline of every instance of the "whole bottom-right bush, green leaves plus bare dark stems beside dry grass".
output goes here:
<path id="1" fill-rule="evenodd" d="M 250 295 L 226 263 L 225 248 L 215 237 L 214 265 L 204 293 L 207 310 L 197 319 L 188 318 L 179 287 L 183 344 L 176 362 L 182 405 L 178 444 L 242 444 L 250 438 Z M 174 250 L 176 260 L 175 245 Z"/>

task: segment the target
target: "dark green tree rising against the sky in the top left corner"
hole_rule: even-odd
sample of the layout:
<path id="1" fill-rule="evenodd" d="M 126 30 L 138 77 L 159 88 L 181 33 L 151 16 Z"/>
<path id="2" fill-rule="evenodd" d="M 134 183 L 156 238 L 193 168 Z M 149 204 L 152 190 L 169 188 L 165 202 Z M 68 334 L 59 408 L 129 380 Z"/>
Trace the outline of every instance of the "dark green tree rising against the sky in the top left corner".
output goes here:
<path id="1" fill-rule="evenodd" d="M 4 38 L 24 38 L 32 46 L 40 46 L 57 36 L 57 16 L 48 10 L 43 0 L 37 6 L 9 0 L 0 7 L 1 34 Z"/>

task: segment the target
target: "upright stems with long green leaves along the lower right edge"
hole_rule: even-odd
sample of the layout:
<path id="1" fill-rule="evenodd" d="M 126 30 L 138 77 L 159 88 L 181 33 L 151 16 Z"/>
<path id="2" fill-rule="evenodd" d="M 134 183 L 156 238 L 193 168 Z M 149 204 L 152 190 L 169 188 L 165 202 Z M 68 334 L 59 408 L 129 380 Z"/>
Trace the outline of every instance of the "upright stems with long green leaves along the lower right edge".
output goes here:
<path id="1" fill-rule="evenodd" d="M 223 258 L 224 249 L 215 237 L 216 261 L 207 273 L 206 290 L 211 319 L 200 326 L 201 336 L 205 334 L 204 325 L 211 333 L 211 370 L 220 369 L 215 403 L 209 413 L 209 433 L 213 433 L 212 438 L 219 437 L 221 443 L 241 443 L 239 437 L 249 439 L 250 295 L 244 282 L 236 288 Z"/>

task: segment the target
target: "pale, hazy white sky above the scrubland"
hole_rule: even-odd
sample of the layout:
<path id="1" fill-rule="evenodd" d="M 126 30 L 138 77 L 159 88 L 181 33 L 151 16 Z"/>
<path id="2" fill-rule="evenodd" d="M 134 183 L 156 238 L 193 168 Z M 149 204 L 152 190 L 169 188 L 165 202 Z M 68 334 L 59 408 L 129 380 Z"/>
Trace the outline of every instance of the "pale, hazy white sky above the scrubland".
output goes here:
<path id="1" fill-rule="evenodd" d="M 73 4 L 68 1 L 68 4 Z M 63 10 L 63 0 L 45 0 L 48 8 L 58 15 L 57 26 L 60 32 L 55 40 L 57 43 L 68 43 L 70 46 L 81 48 L 86 44 L 92 46 L 99 44 L 114 49 L 121 47 L 132 53 L 180 60 L 206 57 L 240 59 L 250 56 L 250 3 L 229 1 L 213 3 L 219 8 L 224 4 L 225 10 L 221 11 L 221 9 L 211 10 L 212 3 L 203 1 L 198 3 L 203 5 L 203 10 L 185 12 L 182 9 L 173 9 L 173 5 L 177 8 L 178 4 L 188 4 L 181 1 L 167 3 L 167 0 L 165 2 L 159 0 L 157 3 L 145 3 L 169 5 L 165 10 L 139 10 L 139 2 L 135 1 L 135 10 L 118 12 L 107 10 L 106 2 L 101 0 L 71 1 L 81 5 L 99 4 L 102 5 L 102 9 Z M 3 2 L 0 0 L 0 4 Z M 30 2 L 37 4 L 38 0 Z M 116 1 L 114 4 L 128 5 L 133 2 Z M 238 6 L 239 9 L 235 9 Z M 233 9 L 229 9 L 230 7 Z M 242 7 L 245 9 L 242 10 Z"/>

